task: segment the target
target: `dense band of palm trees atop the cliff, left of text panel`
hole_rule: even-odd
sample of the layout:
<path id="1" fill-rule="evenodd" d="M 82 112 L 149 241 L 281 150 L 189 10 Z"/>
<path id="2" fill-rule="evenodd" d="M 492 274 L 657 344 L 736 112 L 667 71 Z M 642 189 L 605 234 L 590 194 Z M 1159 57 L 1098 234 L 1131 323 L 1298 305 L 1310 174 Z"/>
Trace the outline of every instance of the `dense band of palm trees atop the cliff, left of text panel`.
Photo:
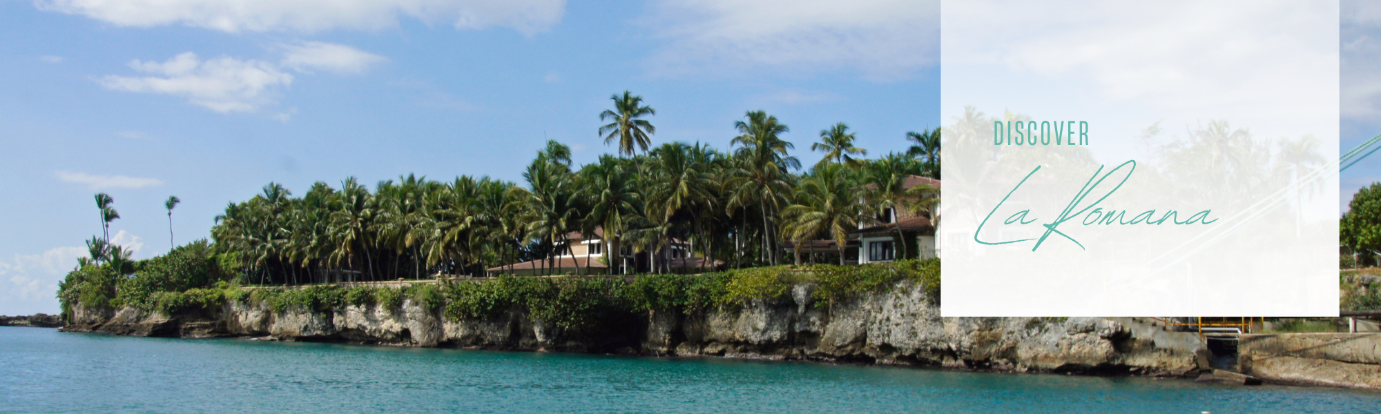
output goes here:
<path id="1" fill-rule="evenodd" d="M 627 91 L 610 99 L 613 109 L 599 115 L 609 123 L 598 132 L 616 155 L 595 163 L 574 166 L 569 146 L 548 141 L 522 185 L 409 174 L 373 189 L 355 178 L 316 182 L 294 197 L 271 182 L 217 215 L 213 250 L 247 283 L 394 280 L 550 261 L 570 253 L 569 233 L 601 228 L 609 244 L 603 264 L 616 262 L 613 253 L 664 254 L 684 240 L 708 262 L 749 268 L 784 262 L 787 240 L 829 237 L 842 247 L 848 230 L 876 222 L 882 208 L 934 207 L 918 203 L 927 189 L 907 192 L 903 182 L 939 178 L 938 128 L 909 132 L 909 152 L 865 159 L 855 134 L 838 123 L 820 131 L 811 149 L 823 156 L 802 170 L 793 144 L 782 139 L 789 127 L 762 110 L 735 121 L 739 135 L 720 150 L 652 145 L 655 109 Z M 670 270 L 667 257 L 652 265 Z"/>

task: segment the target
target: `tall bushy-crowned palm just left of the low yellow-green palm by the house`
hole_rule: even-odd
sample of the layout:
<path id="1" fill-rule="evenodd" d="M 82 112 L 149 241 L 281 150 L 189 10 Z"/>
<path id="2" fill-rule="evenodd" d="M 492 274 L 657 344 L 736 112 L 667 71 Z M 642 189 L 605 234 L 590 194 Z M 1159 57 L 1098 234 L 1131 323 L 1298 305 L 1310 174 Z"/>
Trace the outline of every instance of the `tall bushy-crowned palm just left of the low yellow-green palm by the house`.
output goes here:
<path id="1" fill-rule="evenodd" d="M 762 110 L 750 110 L 747 121 L 735 121 L 733 127 L 742 135 L 735 137 L 731 145 L 739 145 L 735 152 L 736 164 L 732 175 L 724 181 L 724 188 L 729 192 L 726 207 L 744 207 L 757 204 L 762 217 L 762 248 L 766 254 L 765 262 L 776 264 L 776 232 L 773 230 L 775 213 L 780 208 L 780 201 L 790 196 L 790 170 L 801 168 L 801 161 L 789 156 L 791 142 L 780 138 L 790 131 L 787 126 L 778 123 L 775 116 Z"/>

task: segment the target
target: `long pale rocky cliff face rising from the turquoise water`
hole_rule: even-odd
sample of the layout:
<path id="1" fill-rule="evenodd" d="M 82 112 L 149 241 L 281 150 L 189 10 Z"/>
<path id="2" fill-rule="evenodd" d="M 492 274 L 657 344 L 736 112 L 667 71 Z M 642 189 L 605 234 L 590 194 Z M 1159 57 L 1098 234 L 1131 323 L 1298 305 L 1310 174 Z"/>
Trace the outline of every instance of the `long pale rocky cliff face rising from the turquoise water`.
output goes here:
<path id="1" fill-rule="evenodd" d="M 228 302 L 214 312 L 160 315 L 75 305 L 68 331 L 152 337 L 272 337 L 402 346 L 626 355 L 801 359 L 916 364 L 983 371 L 1185 375 L 1196 373 L 1197 335 L 1137 319 L 940 317 L 920 286 L 815 304 L 811 286 L 778 299 L 710 312 L 649 312 L 565 330 L 521 309 L 446 320 L 405 299 L 327 312 L 272 312 Z"/>

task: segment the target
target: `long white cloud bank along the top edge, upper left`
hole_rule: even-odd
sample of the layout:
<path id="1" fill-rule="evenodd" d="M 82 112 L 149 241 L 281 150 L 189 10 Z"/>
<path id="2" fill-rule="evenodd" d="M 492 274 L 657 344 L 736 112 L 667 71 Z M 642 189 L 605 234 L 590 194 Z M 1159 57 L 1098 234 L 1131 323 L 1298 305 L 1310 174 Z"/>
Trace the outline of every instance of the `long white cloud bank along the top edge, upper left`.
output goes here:
<path id="1" fill-rule="evenodd" d="M 224 32 L 376 30 L 399 17 L 457 29 L 504 26 L 532 36 L 561 21 L 565 0 L 37 0 L 47 11 L 120 26 L 188 25 Z"/>

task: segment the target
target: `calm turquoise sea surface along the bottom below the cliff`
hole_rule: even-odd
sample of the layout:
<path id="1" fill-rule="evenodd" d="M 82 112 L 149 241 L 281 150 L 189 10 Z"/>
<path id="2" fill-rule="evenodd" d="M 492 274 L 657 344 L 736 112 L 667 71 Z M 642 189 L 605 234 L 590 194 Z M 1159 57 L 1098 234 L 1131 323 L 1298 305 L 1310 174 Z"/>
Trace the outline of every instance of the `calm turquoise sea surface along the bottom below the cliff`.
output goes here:
<path id="1" fill-rule="evenodd" d="M 1381 413 L 1381 393 L 0 327 L 0 413 Z"/>

